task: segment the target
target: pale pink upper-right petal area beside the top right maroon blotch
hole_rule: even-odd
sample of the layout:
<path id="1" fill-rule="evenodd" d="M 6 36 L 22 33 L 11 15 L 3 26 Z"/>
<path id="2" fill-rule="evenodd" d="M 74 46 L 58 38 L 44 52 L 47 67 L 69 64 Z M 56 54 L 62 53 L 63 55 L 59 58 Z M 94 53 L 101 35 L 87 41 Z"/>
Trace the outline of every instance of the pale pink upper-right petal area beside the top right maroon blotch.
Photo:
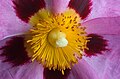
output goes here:
<path id="1" fill-rule="evenodd" d="M 120 16 L 120 0 L 92 0 L 92 11 L 88 19 Z"/>

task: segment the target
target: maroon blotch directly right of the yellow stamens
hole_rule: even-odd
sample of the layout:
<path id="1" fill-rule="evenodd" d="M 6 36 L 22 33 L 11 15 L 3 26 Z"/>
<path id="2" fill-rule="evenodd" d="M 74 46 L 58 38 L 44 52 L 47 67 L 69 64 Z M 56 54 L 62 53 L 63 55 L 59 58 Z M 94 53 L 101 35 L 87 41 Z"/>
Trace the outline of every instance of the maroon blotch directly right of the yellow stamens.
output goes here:
<path id="1" fill-rule="evenodd" d="M 103 51 L 108 50 L 107 40 L 105 40 L 102 36 L 97 34 L 89 34 L 88 37 L 90 37 L 88 39 L 89 42 L 87 43 L 89 50 L 85 50 L 87 56 L 102 54 Z"/>

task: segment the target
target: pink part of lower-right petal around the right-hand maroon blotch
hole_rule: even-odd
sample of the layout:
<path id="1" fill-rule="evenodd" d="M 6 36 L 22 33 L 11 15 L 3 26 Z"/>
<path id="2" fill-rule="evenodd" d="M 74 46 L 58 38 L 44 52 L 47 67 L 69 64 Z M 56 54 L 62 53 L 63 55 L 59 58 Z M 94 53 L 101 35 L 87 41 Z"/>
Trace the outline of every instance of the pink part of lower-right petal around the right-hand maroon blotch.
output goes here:
<path id="1" fill-rule="evenodd" d="M 104 55 L 84 59 L 94 68 L 100 79 L 120 79 L 120 35 L 103 35 L 109 41 L 110 51 Z"/>

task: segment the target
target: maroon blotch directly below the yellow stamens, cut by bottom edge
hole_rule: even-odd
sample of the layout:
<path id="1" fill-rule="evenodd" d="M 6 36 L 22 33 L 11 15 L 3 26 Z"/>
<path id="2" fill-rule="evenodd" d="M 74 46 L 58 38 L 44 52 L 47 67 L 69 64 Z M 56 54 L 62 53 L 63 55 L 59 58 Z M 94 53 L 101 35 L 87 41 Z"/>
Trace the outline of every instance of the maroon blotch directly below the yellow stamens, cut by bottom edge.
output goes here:
<path id="1" fill-rule="evenodd" d="M 70 69 L 66 69 L 64 71 L 64 75 L 59 70 L 49 70 L 47 68 L 44 69 L 44 79 L 67 79 L 70 74 Z"/>

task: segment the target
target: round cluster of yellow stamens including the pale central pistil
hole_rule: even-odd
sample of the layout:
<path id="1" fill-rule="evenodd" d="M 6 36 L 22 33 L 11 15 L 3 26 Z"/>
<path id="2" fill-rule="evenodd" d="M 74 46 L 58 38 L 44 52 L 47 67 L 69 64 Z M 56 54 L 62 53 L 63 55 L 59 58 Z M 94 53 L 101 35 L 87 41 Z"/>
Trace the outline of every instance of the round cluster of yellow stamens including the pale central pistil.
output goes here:
<path id="1" fill-rule="evenodd" d="M 32 61 L 64 75 L 81 58 L 88 42 L 85 27 L 73 9 L 52 14 L 39 10 L 30 18 L 31 29 L 25 36 L 25 47 Z"/>

